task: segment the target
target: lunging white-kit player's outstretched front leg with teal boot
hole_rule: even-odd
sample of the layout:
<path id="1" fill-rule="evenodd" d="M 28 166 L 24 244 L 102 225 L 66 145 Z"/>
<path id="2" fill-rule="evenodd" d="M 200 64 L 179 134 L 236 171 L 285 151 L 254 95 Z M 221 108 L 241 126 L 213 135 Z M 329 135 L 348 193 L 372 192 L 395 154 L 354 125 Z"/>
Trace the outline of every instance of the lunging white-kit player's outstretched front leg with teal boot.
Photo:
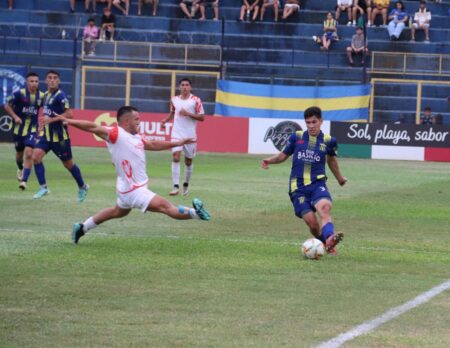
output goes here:
<path id="1" fill-rule="evenodd" d="M 176 207 L 167 199 L 156 195 L 149 203 L 147 210 L 156 213 L 162 213 L 177 220 L 201 219 L 210 220 L 211 216 L 203 207 L 199 199 L 192 201 L 194 208 L 178 206 Z"/>

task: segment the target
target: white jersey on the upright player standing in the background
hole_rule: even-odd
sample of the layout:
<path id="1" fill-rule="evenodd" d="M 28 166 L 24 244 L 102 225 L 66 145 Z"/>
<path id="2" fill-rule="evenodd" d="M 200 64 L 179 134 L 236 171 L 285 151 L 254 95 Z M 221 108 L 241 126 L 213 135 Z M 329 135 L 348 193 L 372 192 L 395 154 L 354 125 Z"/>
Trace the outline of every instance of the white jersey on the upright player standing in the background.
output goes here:
<path id="1" fill-rule="evenodd" d="M 197 121 L 189 116 L 181 116 L 180 110 L 184 109 L 191 114 L 203 115 L 202 101 L 199 97 L 190 94 L 187 99 L 181 99 L 181 96 L 177 95 L 172 97 L 170 102 L 170 111 L 174 112 L 172 139 L 197 139 Z"/>

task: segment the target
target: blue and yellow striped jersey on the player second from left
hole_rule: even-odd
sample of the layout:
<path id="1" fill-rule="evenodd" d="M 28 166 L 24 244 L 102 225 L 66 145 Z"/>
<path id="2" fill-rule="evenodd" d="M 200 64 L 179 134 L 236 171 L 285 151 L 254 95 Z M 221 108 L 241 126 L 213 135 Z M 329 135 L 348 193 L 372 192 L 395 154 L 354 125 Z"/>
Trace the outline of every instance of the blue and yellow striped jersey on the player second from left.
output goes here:
<path id="1" fill-rule="evenodd" d="M 44 116 L 53 118 L 56 115 L 62 115 L 68 109 L 70 109 L 69 100 L 63 91 L 58 89 L 53 93 L 45 92 Z M 63 125 L 62 122 L 54 122 L 46 124 L 40 136 L 45 136 L 49 142 L 60 142 L 69 139 L 69 132 L 67 126 Z"/>

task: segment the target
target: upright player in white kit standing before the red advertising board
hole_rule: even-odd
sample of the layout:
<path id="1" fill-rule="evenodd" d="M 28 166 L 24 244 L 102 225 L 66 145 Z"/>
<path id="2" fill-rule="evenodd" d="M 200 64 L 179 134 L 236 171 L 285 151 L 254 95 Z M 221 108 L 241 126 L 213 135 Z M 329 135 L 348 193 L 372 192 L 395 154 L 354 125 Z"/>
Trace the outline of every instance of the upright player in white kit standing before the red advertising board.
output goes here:
<path id="1" fill-rule="evenodd" d="M 180 95 L 172 97 L 170 101 L 170 113 L 161 121 L 163 128 L 165 124 L 173 119 L 172 141 L 190 138 L 197 139 L 197 122 L 205 120 L 205 111 L 199 97 L 191 93 L 192 83 L 189 79 L 181 79 L 179 82 Z M 189 180 L 191 179 L 197 144 L 185 144 L 172 148 L 172 182 L 173 190 L 171 196 L 180 192 L 180 157 L 184 152 L 184 183 L 183 195 L 189 193 Z"/>

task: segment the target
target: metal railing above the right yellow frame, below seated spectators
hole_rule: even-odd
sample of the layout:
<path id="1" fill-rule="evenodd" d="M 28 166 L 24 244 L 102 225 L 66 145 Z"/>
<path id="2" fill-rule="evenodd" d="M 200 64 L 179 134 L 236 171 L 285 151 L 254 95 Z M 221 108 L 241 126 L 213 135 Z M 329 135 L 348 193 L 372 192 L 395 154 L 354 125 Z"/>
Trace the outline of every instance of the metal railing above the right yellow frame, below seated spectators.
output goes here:
<path id="1" fill-rule="evenodd" d="M 411 52 L 371 53 L 369 73 L 450 76 L 450 55 Z"/>

